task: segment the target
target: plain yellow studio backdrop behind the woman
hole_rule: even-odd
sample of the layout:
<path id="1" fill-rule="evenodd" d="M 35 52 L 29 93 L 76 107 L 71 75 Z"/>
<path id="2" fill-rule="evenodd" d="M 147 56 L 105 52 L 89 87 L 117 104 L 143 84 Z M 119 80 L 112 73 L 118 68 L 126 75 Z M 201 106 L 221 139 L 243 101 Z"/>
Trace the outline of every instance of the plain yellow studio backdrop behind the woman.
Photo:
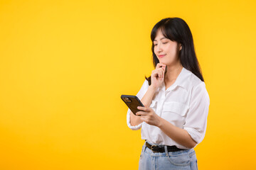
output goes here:
<path id="1" fill-rule="evenodd" d="M 153 69 L 150 33 L 191 28 L 210 96 L 199 169 L 253 169 L 255 1 L 0 1 L 0 169 L 137 169 L 121 94 Z"/>

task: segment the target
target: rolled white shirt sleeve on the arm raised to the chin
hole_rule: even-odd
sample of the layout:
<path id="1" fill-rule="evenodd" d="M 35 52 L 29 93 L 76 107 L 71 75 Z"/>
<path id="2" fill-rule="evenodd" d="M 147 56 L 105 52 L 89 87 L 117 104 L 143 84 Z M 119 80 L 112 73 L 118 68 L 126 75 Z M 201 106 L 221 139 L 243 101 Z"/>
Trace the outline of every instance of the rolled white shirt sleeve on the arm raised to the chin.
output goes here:
<path id="1" fill-rule="evenodd" d="M 144 83 L 142 84 L 141 89 L 139 90 L 139 92 L 136 95 L 139 98 L 139 100 L 142 100 L 142 97 L 144 96 L 144 94 L 146 94 L 146 91 L 147 91 L 148 88 L 149 88 L 148 81 L 145 80 Z M 131 113 L 131 110 L 128 108 L 128 111 L 127 111 L 127 125 L 128 125 L 128 127 L 131 130 L 139 130 L 140 128 L 142 128 L 142 123 L 140 123 L 139 125 L 132 126 L 131 125 L 131 120 L 130 120 L 130 113 Z"/>

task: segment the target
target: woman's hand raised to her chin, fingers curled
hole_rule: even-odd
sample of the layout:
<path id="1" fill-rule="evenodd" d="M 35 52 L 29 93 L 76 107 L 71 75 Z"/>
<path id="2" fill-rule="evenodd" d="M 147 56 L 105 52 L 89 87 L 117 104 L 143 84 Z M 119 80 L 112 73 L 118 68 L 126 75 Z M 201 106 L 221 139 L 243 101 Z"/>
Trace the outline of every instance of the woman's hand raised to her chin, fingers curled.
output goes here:
<path id="1" fill-rule="evenodd" d="M 156 69 L 154 69 L 151 73 L 151 85 L 155 89 L 159 88 L 159 86 L 164 81 L 164 71 L 166 69 L 166 64 L 158 63 L 156 64 Z"/>

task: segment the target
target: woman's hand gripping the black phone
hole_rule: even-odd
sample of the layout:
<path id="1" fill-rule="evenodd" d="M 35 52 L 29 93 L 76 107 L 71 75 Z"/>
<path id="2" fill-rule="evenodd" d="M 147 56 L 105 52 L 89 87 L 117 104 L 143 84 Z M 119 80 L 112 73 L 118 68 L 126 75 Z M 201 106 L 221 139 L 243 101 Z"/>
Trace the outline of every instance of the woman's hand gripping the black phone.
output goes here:
<path id="1" fill-rule="evenodd" d="M 159 115 L 156 115 L 156 113 L 152 108 L 149 108 L 147 106 L 145 107 L 138 106 L 137 108 L 140 111 L 138 111 L 136 115 L 140 115 L 142 121 L 144 121 L 149 125 L 155 125 L 159 127 L 161 123 L 161 118 L 159 117 Z"/>

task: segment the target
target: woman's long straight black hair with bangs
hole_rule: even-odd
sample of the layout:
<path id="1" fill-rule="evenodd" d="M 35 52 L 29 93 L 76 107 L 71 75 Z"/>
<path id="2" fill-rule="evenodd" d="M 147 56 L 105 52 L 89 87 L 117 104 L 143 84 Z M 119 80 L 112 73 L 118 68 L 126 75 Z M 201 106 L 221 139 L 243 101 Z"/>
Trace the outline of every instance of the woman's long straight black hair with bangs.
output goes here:
<path id="1" fill-rule="evenodd" d="M 156 68 L 156 64 L 159 63 L 159 60 L 154 53 L 154 39 L 156 38 L 156 32 L 159 29 L 161 30 L 161 33 L 164 35 L 165 38 L 181 43 L 182 47 L 178 56 L 181 61 L 181 65 L 185 69 L 188 69 L 193 74 L 195 74 L 196 77 L 201 79 L 201 81 L 204 81 L 198 60 L 196 58 L 191 30 L 189 29 L 188 24 L 181 18 L 164 18 L 156 23 L 154 28 L 151 30 L 151 50 L 153 52 L 154 68 Z M 150 85 L 151 77 L 145 78 Z"/>

